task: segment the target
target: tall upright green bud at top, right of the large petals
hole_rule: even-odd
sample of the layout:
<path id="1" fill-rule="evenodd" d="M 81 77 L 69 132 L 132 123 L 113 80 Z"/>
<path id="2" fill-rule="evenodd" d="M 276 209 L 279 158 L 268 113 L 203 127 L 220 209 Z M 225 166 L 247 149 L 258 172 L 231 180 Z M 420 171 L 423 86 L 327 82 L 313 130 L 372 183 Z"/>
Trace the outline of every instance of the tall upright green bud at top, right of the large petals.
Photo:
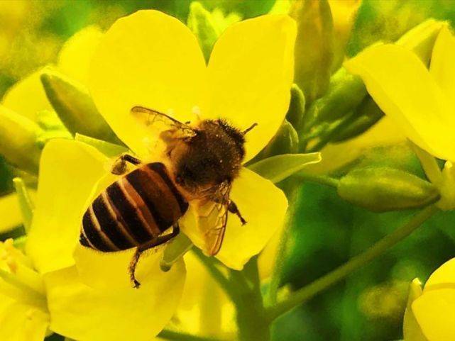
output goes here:
<path id="1" fill-rule="evenodd" d="M 334 59 L 334 24 L 327 0 L 297 0 L 290 16 L 297 21 L 295 82 L 307 101 L 319 98 L 329 86 Z"/>

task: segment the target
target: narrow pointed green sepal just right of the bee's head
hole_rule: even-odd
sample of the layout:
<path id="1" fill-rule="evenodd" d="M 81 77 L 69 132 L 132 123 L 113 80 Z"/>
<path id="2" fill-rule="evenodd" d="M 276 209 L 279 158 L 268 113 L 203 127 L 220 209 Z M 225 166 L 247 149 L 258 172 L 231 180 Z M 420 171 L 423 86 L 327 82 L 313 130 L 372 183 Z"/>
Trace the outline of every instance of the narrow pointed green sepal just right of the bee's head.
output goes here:
<path id="1" fill-rule="evenodd" d="M 255 164 L 251 164 L 248 168 L 261 175 L 261 177 L 277 183 L 304 169 L 307 164 L 314 164 L 319 161 L 321 161 L 321 154 L 319 152 L 283 154 L 268 157 Z"/>

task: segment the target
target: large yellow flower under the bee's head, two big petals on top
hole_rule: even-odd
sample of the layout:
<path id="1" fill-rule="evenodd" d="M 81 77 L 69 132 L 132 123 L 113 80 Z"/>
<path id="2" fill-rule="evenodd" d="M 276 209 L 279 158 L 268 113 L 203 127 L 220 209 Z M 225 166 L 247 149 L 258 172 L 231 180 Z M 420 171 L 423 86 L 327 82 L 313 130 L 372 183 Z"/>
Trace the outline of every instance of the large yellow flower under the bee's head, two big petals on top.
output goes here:
<path id="1" fill-rule="evenodd" d="M 292 84 L 295 23 L 287 16 L 261 16 L 226 28 L 208 65 L 190 30 L 158 11 L 138 11 L 106 32 L 92 60 L 89 89 L 99 112 L 117 136 L 143 160 L 150 160 L 152 132 L 131 116 L 146 106 L 179 121 L 226 118 L 248 133 L 245 162 L 273 137 L 283 122 Z M 156 157 L 156 155 L 155 155 Z M 243 169 L 231 191 L 248 221 L 229 219 L 219 259 L 241 269 L 258 254 L 282 223 L 283 192 Z M 194 225 L 184 233 L 204 250 L 204 234 Z"/>

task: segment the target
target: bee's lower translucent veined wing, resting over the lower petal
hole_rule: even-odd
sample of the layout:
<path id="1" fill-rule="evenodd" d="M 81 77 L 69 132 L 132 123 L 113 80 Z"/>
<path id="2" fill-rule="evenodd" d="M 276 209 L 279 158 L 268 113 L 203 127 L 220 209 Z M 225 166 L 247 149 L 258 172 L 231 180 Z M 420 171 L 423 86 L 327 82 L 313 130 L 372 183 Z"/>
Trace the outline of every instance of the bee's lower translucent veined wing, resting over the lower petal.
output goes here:
<path id="1" fill-rule="evenodd" d="M 216 255 L 223 244 L 228 219 L 230 184 L 223 184 L 214 194 L 213 201 L 206 203 L 199 211 L 199 228 L 204 232 L 206 250 Z"/>

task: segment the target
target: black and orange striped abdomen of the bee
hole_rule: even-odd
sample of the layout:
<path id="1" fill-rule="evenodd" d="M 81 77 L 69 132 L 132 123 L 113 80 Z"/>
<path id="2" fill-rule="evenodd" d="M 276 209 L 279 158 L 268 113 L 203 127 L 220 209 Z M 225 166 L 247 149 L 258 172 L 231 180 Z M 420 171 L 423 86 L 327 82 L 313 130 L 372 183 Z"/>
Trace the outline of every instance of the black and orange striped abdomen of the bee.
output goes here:
<path id="1" fill-rule="evenodd" d="M 143 164 L 97 196 L 82 218 L 80 243 L 111 252 L 142 245 L 174 225 L 188 203 L 164 164 Z"/>

